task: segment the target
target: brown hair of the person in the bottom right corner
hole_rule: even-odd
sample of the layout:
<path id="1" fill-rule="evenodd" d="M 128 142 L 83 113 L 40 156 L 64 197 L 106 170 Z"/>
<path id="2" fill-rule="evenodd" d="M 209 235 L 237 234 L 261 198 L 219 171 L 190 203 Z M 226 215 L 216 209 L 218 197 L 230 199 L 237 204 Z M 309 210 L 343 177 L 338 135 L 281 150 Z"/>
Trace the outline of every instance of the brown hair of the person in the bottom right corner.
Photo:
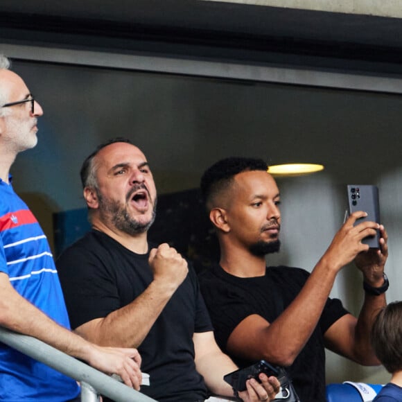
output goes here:
<path id="1" fill-rule="evenodd" d="M 387 372 L 402 370 L 402 302 L 390 303 L 378 313 L 370 335 L 374 352 Z"/>

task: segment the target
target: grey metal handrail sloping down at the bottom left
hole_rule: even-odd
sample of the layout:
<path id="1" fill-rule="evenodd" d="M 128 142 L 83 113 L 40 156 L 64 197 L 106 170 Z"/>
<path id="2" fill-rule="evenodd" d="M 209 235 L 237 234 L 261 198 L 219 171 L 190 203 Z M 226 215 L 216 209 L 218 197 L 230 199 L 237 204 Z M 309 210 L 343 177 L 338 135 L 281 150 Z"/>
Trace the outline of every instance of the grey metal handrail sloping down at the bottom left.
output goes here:
<path id="1" fill-rule="evenodd" d="M 15 333 L 0 326 L 0 342 L 80 381 L 82 402 L 98 401 L 98 394 L 116 402 L 156 402 L 155 399 L 119 383 L 114 378 L 31 336 Z"/>

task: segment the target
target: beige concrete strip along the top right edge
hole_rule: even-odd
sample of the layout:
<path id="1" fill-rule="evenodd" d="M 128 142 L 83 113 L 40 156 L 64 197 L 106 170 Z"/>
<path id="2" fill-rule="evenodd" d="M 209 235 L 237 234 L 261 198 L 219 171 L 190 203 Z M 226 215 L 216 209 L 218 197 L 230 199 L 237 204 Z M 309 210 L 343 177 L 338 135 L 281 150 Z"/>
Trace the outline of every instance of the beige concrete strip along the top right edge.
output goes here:
<path id="1" fill-rule="evenodd" d="M 343 12 L 345 14 L 402 17 L 400 0 L 202 0 L 299 10 Z"/>

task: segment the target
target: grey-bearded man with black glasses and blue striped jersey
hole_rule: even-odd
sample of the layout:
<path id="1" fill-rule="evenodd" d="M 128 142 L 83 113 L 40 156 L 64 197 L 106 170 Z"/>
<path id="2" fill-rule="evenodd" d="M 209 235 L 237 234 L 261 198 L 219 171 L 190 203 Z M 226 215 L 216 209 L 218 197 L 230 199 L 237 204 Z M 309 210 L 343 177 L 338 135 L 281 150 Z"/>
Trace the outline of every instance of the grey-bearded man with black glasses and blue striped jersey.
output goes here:
<path id="1" fill-rule="evenodd" d="M 42 107 L 0 55 L 0 326 L 33 336 L 139 389 L 137 349 L 98 347 L 69 331 L 49 243 L 12 189 L 10 168 L 37 143 Z M 0 343 L 1 401 L 78 401 L 73 379 Z"/>

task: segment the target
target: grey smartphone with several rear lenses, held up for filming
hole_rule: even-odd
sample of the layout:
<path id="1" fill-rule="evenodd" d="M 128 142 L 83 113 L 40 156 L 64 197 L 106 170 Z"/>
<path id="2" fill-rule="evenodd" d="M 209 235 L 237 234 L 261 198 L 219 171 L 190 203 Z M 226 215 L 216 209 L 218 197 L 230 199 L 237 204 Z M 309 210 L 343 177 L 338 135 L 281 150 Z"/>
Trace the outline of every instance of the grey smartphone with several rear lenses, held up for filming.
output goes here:
<path id="1" fill-rule="evenodd" d="M 347 199 L 349 203 L 349 213 L 354 211 L 365 211 L 367 216 L 356 220 L 355 225 L 371 220 L 380 223 L 380 202 L 378 198 L 377 186 L 365 184 L 348 184 Z M 380 247 L 380 231 L 377 230 L 375 236 L 363 238 L 362 243 L 369 245 L 370 248 Z"/>

